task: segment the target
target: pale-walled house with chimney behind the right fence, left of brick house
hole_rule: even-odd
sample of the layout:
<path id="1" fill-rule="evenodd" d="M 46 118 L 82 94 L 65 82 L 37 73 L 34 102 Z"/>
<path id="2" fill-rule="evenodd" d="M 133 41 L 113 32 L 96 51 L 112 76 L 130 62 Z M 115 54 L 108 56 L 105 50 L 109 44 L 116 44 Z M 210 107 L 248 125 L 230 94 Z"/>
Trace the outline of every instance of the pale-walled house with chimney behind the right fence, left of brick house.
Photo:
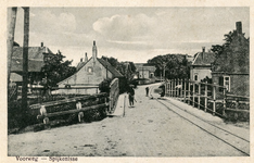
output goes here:
<path id="1" fill-rule="evenodd" d="M 198 52 L 190 67 L 190 79 L 201 82 L 201 79 L 212 78 L 211 63 L 215 60 L 215 53 L 205 52 L 205 48 L 202 48 L 202 52 Z"/>

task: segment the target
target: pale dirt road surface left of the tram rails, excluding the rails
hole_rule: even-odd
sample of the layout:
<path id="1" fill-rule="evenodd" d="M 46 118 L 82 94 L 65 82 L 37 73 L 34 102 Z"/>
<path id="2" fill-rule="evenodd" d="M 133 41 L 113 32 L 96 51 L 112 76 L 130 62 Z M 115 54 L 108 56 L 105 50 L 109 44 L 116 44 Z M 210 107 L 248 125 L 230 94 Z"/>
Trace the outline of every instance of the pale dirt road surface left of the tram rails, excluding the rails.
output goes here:
<path id="1" fill-rule="evenodd" d="M 8 154 L 23 156 L 239 156 L 232 147 L 145 97 L 136 89 L 135 108 L 107 117 L 8 136 Z M 249 134 L 249 130 L 245 130 Z"/>

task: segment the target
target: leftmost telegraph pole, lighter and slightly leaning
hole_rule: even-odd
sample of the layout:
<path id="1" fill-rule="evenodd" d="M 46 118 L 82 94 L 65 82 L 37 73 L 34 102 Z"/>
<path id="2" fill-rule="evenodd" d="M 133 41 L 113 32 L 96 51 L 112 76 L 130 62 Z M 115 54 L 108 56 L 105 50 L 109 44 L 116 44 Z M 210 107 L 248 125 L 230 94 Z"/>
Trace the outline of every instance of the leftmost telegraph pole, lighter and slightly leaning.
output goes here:
<path id="1" fill-rule="evenodd" d="M 13 52 L 13 42 L 15 34 L 15 24 L 16 24 L 16 8 L 9 8 L 8 10 L 10 14 L 10 22 L 8 24 L 8 30 L 9 30 L 8 42 L 7 42 L 8 43 L 8 88 L 9 88 L 11 68 L 12 68 L 12 52 Z"/>

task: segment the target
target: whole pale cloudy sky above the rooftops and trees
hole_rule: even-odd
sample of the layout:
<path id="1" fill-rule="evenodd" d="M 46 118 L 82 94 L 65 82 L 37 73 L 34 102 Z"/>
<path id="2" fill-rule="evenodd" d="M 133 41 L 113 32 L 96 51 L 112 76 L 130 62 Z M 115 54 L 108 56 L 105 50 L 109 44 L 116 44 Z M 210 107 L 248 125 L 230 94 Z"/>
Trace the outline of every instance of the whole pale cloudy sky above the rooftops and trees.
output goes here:
<path id="1" fill-rule="evenodd" d="M 24 12 L 17 9 L 14 40 L 23 46 Z M 29 47 L 43 42 L 76 66 L 86 52 L 92 55 L 96 40 L 99 58 L 145 63 L 160 54 L 193 55 L 223 45 L 239 21 L 250 37 L 249 8 L 30 8 Z"/>

